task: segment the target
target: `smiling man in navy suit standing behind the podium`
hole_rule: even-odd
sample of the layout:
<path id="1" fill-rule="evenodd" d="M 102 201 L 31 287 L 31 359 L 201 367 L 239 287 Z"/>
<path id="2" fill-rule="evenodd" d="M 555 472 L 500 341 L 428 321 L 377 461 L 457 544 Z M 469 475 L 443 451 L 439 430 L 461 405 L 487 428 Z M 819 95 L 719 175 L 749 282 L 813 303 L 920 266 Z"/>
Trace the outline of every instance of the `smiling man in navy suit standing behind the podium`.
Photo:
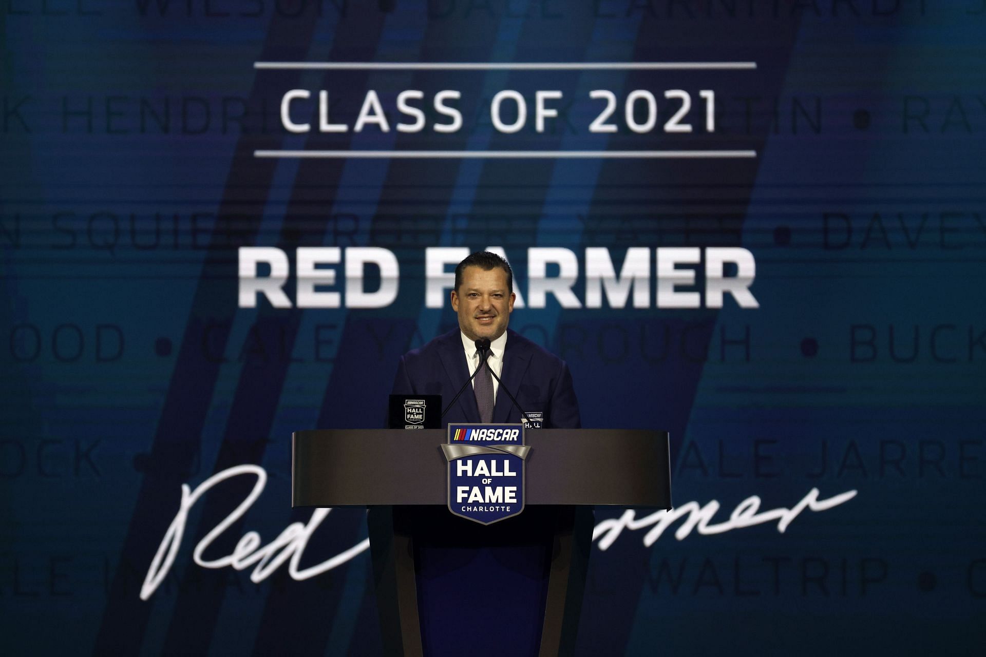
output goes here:
<path id="1" fill-rule="evenodd" d="M 532 427 L 580 427 L 579 402 L 568 366 L 507 328 L 516 298 L 514 273 L 500 256 L 479 251 L 458 263 L 452 291 L 458 329 L 402 356 L 393 393 L 440 394 L 448 405 L 480 365 L 476 340 L 488 338 L 489 368 L 517 397 L 521 409 L 484 368 L 473 378 L 472 390 L 465 390 L 446 414 L 443 427 L 449 423 L 520 423 L 521 411 Z"/>

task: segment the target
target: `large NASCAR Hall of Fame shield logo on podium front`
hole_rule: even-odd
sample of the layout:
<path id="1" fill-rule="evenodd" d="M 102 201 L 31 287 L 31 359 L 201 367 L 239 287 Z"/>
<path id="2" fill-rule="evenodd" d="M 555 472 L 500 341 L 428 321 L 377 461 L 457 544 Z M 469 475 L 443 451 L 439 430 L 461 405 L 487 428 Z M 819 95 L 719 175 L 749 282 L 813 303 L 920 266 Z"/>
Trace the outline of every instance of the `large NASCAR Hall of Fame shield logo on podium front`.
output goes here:
<path id="1" fill-rule="evenodd" d="M 524 510 L 523 425 L 449 425 L 449 510 L 489 525 Z"/>

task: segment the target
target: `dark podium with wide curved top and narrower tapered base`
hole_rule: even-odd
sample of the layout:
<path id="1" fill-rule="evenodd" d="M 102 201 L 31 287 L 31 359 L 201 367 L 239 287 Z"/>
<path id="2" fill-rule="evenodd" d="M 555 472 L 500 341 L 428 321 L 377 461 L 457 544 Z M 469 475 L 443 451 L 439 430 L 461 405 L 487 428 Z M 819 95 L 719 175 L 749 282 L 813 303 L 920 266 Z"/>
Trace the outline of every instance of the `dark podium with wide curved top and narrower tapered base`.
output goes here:
<path id="1" fill-rule="evenodd" d="M 445 429 L 293 434 L 292 506 L 367 506 L 387 655 L 571 654 L 595 505 L 670 508 L 668 433 L 528 429 L 526 506 L 448 508 Z"/>

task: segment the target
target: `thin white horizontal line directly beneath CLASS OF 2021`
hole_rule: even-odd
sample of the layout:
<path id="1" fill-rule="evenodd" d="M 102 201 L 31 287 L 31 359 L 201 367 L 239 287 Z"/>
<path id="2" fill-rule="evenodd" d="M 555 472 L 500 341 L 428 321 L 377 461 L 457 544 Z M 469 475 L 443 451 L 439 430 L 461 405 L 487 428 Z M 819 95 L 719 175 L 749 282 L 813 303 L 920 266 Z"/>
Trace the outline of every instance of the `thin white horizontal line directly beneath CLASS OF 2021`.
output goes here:
<path id="1" fill-rule="evenodd" d="M 755 158 L 756 151 L 253 151 L 254 158 L 347 159 L 727 159 Z"/>

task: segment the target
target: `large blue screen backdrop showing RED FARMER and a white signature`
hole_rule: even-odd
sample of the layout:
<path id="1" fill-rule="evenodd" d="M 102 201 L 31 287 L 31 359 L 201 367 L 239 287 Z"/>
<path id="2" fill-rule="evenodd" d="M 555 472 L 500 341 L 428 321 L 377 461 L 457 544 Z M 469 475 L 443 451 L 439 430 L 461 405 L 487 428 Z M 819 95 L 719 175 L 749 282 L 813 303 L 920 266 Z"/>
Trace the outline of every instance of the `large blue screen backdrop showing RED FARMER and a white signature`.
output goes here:
<path id="1" fill-rule="evenodd" d="M 580 655 L 983 644 L 979 0 L 0 17 L 6 654 L 381 654 L 291 432 L 382 426 L 484 248 L 583 425 L 671 436 Z"/>

